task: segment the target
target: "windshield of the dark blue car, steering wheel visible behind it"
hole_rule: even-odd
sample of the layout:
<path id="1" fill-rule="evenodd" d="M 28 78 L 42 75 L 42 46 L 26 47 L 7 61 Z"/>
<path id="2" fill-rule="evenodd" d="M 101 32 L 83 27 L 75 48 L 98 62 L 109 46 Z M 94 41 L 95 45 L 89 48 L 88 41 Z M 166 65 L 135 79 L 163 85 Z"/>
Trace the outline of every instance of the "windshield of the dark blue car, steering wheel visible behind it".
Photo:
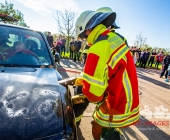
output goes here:
<path id="1" fill-rule="evenodd" d="M 36 31 L 0 26 L 0 66 L 51 65 L 49 50 Z"/>

